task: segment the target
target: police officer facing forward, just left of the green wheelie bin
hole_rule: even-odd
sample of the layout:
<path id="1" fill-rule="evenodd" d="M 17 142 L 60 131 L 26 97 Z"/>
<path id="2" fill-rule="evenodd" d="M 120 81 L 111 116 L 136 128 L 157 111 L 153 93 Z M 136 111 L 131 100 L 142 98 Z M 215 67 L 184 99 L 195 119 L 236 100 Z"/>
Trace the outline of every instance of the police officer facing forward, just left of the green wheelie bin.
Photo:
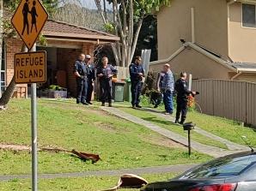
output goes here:
<path id="1" fill-rule="evenodd" d="M 105 106 L 105 102 L 108 102 L 108 106 L 112 107 L 112 77 L 116 75 L 118 70 L 111 64 L 108 64 L 108 58 L 102 57 L 102 66 L 97 69 L 97 76 L 100 81 L 100 98 L 101 106 Z"/>

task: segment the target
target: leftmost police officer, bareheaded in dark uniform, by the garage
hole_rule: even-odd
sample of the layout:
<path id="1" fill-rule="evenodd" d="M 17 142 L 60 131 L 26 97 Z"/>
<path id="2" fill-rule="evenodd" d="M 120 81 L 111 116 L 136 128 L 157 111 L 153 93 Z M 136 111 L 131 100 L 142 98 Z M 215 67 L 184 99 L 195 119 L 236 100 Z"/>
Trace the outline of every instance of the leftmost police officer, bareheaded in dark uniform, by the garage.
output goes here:
<path id="1" fill-rule="evenodd" d="M 84 63 L 85 55 L 80 54 L 79 58 L 76 60 L 74 67 L 74 74 L 76 75 L 76 104 L 88 104 L 86 102 L 87 96 L 87 69 Z"/>

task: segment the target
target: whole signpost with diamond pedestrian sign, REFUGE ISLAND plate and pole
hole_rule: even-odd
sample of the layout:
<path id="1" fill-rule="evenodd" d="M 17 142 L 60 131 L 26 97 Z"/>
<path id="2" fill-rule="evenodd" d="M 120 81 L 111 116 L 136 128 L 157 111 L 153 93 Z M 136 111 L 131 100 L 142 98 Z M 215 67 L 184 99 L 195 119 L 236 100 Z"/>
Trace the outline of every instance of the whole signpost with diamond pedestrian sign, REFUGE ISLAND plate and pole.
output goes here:
<path id="1" fill-rule="evenodd" d="M 11 19 L 29 50 L 15 54 L 15 83 L 31 83 L 32 190 L 38 190 L 36 83 L 46 82 L 46 51 L 36 52 L 35 42 L 48 19 L 40 0 L 21 0 Z"/>

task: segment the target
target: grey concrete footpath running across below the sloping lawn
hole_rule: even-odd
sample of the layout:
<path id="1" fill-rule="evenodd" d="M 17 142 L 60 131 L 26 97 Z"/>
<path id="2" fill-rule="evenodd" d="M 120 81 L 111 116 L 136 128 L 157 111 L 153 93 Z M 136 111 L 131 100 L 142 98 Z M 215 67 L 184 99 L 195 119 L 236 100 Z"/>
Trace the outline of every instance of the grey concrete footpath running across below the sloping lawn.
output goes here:
<path id="1" fill-rule="evenodd" d="M 85 171 L 85 172 L 70 172 L 59 174 L 40 174 L 39 178 L 70 178 L 70 177 L 86 177 L 86 176 L 121 176 L 123 174 L 162 174 L 162 173 L 181 173 L 191 169 L 196 164 L 179 164 L 168 166 L 155 166 L 155 167 L 143 167 L 136 169 L 122 169 L 122 170 L 101 170 L 101 171 Z M 13 179 L 31 179 L 31 175 L 6 175 L 0 176 L 0 182 L 9 181 Z"/>

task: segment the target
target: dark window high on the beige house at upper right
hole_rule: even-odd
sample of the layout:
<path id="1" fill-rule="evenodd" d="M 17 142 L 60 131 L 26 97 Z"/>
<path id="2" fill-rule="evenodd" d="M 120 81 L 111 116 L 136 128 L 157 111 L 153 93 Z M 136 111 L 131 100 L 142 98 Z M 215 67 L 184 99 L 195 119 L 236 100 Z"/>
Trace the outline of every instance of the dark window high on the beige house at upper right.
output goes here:
<path id="1" fill-rule="evenodd" d="M 242 27 L 256 27 L 255 4 L 242 4 Z"/>

